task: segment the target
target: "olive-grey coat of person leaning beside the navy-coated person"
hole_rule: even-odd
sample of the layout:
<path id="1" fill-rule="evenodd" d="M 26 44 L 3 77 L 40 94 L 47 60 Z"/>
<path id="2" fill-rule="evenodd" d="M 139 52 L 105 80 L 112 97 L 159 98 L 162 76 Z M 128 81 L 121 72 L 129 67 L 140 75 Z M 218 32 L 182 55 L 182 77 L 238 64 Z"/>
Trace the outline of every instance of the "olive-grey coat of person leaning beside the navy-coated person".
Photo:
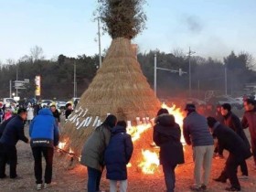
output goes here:
<path id="1" fill-rule="evenodd" d="M 102 170 L 104 152 L 111 138 L 111 128 L 101 124 L 91 134 L 81 151 L 80 164 Z"/>

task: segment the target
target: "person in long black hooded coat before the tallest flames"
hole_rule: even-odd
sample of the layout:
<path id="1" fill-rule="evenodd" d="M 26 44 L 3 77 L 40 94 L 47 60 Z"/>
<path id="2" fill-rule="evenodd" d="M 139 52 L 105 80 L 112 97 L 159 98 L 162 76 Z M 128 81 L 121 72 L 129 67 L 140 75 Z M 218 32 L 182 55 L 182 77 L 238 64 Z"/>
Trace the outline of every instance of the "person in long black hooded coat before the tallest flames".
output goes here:
<path id="1" fill-rule="evenodd" d="M 175 168 L 178 164 L 184 164 L 183 145 L 180 142 L 181 130 L 175 122 L 175 117 L 166 109 L 157 112 L 155 118 L 153 140 L 160 146 L 160 164 L 163 165 L 165 185 L 167 192 L 175 189 Z"/>

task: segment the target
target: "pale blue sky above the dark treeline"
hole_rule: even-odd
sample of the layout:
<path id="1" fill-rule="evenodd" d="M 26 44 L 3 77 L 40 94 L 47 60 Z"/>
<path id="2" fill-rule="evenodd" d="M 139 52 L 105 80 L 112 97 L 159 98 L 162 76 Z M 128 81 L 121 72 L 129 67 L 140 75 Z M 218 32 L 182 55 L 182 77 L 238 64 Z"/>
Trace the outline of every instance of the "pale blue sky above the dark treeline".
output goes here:
<path id="1" fill-rule="evenodd" d="M 98 52 L 97 0 L 0 0 L 0 60 L 19 59 L 34 46 L 47 59 Z M 189 46 L 221 59 L 231 50 L 256 58 L 255 0 L 147 0 L 147 29 L 133 41 L 141 51 Z M 111 38 L 102 37 L 102 49 Z"/>

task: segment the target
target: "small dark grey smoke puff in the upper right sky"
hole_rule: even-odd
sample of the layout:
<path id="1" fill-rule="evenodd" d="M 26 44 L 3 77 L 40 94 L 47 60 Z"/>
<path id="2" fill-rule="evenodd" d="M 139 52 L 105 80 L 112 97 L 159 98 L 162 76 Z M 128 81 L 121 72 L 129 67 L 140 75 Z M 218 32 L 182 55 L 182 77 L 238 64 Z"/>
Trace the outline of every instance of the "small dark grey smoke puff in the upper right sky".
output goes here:
<path id="1" fill-rule="evenodd" d="M 199 33 L 203 30 L 203 23 L 197 16 L 186 16 L 185 25 L 187 30 L 192 33 Z"/>

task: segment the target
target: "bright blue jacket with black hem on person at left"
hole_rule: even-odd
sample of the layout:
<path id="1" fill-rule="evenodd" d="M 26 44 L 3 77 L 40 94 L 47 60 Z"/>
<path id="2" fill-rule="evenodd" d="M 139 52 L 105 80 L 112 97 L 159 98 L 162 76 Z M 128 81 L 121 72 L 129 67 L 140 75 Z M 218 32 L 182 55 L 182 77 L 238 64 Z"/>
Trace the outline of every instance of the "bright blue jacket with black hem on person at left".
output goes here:
<path id="1" fill-rule="evenodd" d="M 42 109 L 29 126 L 31 147 L 53 147 L 59 144 L 59 128 L 49 109 Z"/>

